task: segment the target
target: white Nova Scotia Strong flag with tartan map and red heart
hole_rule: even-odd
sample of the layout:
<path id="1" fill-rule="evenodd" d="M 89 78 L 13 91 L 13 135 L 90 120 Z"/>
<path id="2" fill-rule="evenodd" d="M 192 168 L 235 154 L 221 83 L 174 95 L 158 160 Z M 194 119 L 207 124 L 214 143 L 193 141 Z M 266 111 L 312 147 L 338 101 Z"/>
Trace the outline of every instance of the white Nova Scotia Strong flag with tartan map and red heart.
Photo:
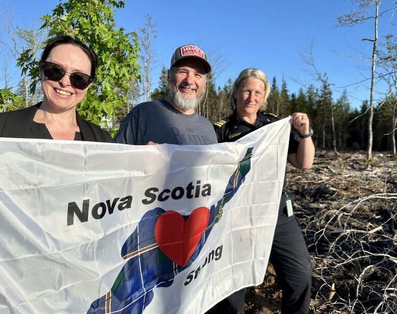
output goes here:
<path id="1" fill-rule="evenodd" d="M 0 139 L 0 313 L 203 313 L 263 281 L 289 119 L 234 143 Z"/>

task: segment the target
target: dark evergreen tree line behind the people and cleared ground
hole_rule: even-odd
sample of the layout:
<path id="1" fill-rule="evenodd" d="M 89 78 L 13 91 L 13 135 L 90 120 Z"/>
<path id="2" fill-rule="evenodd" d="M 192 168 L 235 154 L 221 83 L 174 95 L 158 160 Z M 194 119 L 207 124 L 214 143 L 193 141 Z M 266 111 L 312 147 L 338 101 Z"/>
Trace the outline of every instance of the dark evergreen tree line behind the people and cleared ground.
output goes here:
<path id="1" fill-rule="evenodd" d="M 166 71 L 167 69 L 163 67 L 159 84 L 151 94 L 153 100 L 167 95 Z M 232 79 L 229 79 L 223 88 L 216 87 L 212 75 L 209 74 L 206 97 L 197 108 L 197 112 L 212 123 L 232 114 L 235 108 L 228 104 L 232 88 Z M 368 106 L 368 101 L 363 101 L 360 108 L 352 108 L 346 90 L 334 101 L 327 79 L 319 88 L 311 84 L 305 90 L 300 88 L 297 92 L 290 92 L 285 80 L 282 79 L 281 84 L 278 84 L 276 78 L 273 77 L 266 111 L 279 118 L 285 118 L 294 112 L 307 113 L 311 127 L 315 130 L 313 140 L 317 149 L 366 150 Z M 395 93 L 388 95 L 375 106 L 373 123 L 375 150 L 393 151 L 393 137 L 395 148 L 396 134 L 392 131 L 395 131 L 396 110 L 397 95 Z"/>

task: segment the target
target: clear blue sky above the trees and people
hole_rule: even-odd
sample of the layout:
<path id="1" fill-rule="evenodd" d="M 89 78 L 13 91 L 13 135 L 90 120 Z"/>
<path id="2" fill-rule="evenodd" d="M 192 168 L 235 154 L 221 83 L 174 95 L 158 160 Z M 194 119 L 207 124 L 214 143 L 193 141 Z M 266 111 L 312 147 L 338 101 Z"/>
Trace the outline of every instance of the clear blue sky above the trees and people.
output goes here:
<path id="1" fill-rule="evenodd" d="M 384 1 L 383 3 L 387 3 Z M 37 18 L 51 14 L 55 0 L 15 0 L 14 23 L 20 27 L 40 26 Z M 384 8 L 386 5 L 384 5 Z M 313 42 L 313 56 L 321 73 L 327 73 L 334 98 L 346 87 L 353 107 L 369 99 L 369 81 L 352 85 L 370 77 L 370 62 L 363 61 L 372 52 L 373 21 L 355 27 L 334 28 L 337 16 L 356 10 L 348 0 L 248 0 L 169 2 L 131 1 L 115 13 L 117 27 L 135 32 L 150 14 L 157 24 L 153 42 L 156 67 L 153 85 L 157 86 L 162 65 L 169 67 L 175 48 L 184 44 L 200 46 L 211 58 L 228 60 L 228 67 L 216 79 L 223 87 L 229 78 L 236 78 L 246 68 L 259 68 L 269 80 L 276 77 L 278 85 L 284 78 L 290 92 L 305 89 L 310 83 L 320 86 L 304 69 L 300 57 Z M 380 21 L 379 37 L 396 34 L 396 26 Z M 354 56 L 350 58 L 347 55 Z M 352 85 L 352 86 L 349 86 Z M 385 86 L 377 85 L 382 98 Z"/>

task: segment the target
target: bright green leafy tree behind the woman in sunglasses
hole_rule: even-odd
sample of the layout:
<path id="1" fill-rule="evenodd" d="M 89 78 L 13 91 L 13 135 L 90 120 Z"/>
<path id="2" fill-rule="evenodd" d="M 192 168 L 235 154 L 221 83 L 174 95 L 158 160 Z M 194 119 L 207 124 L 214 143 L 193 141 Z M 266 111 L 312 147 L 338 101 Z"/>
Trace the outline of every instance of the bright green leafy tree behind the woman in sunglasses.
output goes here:
<path id="1" fill-rule="evenodd" d="M 114 9 L 124 8 L 124 1 L 69 0 L 60 3 L 51 15 L 44 15 L 42 28 L 49 37 L 70 35 L 87 43 L 98 55 L 95 82 L 79 104 L 79 114 L 102 126 L 114 120 L 116 108 L 127 102 L 131 80 L 139 80 L 137 35 L 116 28 Z M 22 72 L 37 78 L 38 64 L 26 50 L 18 60 Z M 31 84 L 35 89 L 37 79 Z"/>

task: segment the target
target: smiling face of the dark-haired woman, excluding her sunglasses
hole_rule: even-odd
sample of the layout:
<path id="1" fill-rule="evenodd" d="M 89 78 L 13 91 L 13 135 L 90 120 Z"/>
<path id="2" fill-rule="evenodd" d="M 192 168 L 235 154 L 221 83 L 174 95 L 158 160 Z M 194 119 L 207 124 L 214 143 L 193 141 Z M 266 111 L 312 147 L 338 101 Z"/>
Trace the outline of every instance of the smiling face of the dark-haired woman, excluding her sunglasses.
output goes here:
<path id="1" fill-rule="evenodd" d="M 70 84 L 69 73 L 81 72 L 90 75 L 90 58 L 81 48 L 71 44 L 62 44 L 52 48 L 44 61 L 60 65 L 68 73 L 59 81 L 51 81 L 44 76 L 43 70 L 40 70 L 44 107 L 50 108 L 52 112 L 74 110 L 86 96 L 91 84 L 86 89 L 74 88 Z"/>

